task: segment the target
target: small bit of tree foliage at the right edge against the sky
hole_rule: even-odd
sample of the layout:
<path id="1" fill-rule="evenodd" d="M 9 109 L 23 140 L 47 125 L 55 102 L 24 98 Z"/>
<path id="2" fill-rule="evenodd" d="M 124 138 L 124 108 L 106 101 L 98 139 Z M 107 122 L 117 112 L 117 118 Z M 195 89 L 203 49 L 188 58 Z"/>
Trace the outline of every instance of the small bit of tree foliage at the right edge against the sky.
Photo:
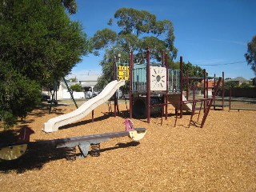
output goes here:
<path id="1" fill-rule="evenodd" d="M 251 69 L 256 75 L 256 35 L 253 37 L 251 42 L 248 42 L 245 57 L 248 65 L 251 66 Z"/>

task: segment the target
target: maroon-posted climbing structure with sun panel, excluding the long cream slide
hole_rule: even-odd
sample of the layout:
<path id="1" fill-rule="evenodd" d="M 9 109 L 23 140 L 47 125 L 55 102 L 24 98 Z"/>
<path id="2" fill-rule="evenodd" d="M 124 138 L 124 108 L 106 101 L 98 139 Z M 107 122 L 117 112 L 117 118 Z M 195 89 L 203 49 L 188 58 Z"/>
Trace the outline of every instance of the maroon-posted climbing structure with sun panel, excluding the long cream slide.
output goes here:
<path id="1" fill-rule="evenodd" d="M 203 108 L 204 112 L 202 127 L 209 114 L 210 107 L 215 102 L 216 90 L 218 90 L 221 83 L 222 87 L 224 87 L 224 73 L 222 73 L 222 78 L 216 78 L 215 75 L 214 77 L 208 77 L 206 70 L 204 70 L 202 78 L 190 78 L 188 75 L 184 78 L 182 74 L 182 57 L 180 57 L 180 70 L 172 70 L 168 66 L 168 58 L 164 51 L 162 51 L 161 63 L 150 63 L 150 50 L 147 50 L 146 53 L 146 63 L 134 63 L 134 55 L 133 51 L 131 51 L 129 63 L 116 62 L 116 59 L 114 59 L 114 71 L 115 79 L 129 79 L 130 118 L 147 118 L 148 123 L 150 123 L 150 115 L 154 114 L 161 114 L 162 117 L 165 116 L 167 119 L 169 104 L 175 108 L 176 121 L 178 111 L 180 111 L 180 118 L 182 118 L 182 111 L 190 110 L 191 122 L 196 110 L 195 106 L 197 102 L 201 102 L 200 111 Z M 193 94 L 193 99 L 188 100 L 188 84 L 191 79 L 203 80 L 203 98 L 196 99 Z M 209 79 L 214 79 L 213 87 L 208 86 Z M 218 79 L 218 82 L 216 82 L 216 79 Z M 186 98 L 182 93 L 183 82 L 185 81 L 187 82 Z M 213 90 L 212 97 L 208 95 L 209 89 Z M 117 107 L 115 106 L 114 108 Z"/>

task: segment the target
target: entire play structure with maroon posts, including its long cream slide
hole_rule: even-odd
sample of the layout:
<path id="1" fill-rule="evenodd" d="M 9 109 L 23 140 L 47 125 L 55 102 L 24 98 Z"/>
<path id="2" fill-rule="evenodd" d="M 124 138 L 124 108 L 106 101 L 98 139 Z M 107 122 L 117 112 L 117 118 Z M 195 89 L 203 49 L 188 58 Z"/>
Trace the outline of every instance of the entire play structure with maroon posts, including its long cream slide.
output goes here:
<path id="1" fill-rule="evenodd" d="M 189 77 L 188 73 L 186 74 L 186 78 L 183 77 L 182 57 L 180 57 L 180 70 L 172 70 L 168 66 L 167 54 L 165 54 L 164 51 L 162 51 L 161 63 L 150 63 L 150 50 L 146 52 L 146 63 L 134 63 L 133 51 L 130 53 L 129 63 L 121 63 L 120 59 L 119 62 L 117 62 L 114 58 L 114 79 L 116 80 L 110 82 L 105 89 L 102 90 L 101 94 L 98 94 L 95 98 L 91 98 L 79 108 L 77 106 L 77 110 L 69 114 L 51 118 L 48 122 L 45 122 L 42 130 L 45 132 L 57 131 L 58 127 L 76 122 L 84 118 L 87 114 L 90 114 L 90 112 L 92 113 L 93 122 L 94 109 L 104 102 L 110 102 L 110 98 L 112 98 L 113 95 L 114 116 L 116 116 L 118 111 L 118 98 L 114 93 L 120 86 L 124 86 L 127 80 L 129 80 L 130 87 L 130 118 L 147 118 L 148 123 L 150 123 L 151 115 L 161 115 L 162 118 L 165 116 L 167 119 L 168 105 L 170 104 L 175 108 L 176 120 L 174 126 L 176 126 L 178 111 L 180 118 L 182 118 L 182 112 L 184 110 L 191 111 L 191 122 L 195 110 L 198 110 L 196 107 L 197 103 L 201 102 L 198 119 L 203 109 L 202 127 L 206 121 L 210 107 L 214 104 L 215 109 L 217 106 L 215 105 L 215 97 L 221 82 L 222 89 L 224 87 L 224 73 L 222 73 L 222 78 L 218 78 L 217 83 L 215 74 L 214 77 L 209 77 L 206 70 L 203 70 L 202 78 Z M 208 86 L 209 79 L 214 79 L 214 86 Z M 193 99 L 189 100 L 189 83 L 191 80 L 203 81 L 203 98 L 195 98 L 195 86 L 192 86 Z M 183 95 L 184 82 L 186 82 L 186 97 Z M 212 97 L 208 95 L 209 89 L 213 92 Z M 222 109 L 223 102 L 222 94 Z"/>

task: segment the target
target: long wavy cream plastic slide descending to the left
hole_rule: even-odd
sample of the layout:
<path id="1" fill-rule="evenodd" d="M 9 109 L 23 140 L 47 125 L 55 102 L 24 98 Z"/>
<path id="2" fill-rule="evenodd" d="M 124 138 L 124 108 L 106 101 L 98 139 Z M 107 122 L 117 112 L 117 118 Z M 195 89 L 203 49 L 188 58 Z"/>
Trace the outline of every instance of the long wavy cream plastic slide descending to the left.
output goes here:
<path id="1" fill-rule="evenodd" d="M 86 117 L 87 114 L 90 114 L 97 106 L 102 105 L 104 102 L 108 101 L 116 90 L 120 86 L 124 86 L 125 81 L 115 80 L 110 82 L 100 94 L 95 98 L 91 98 L 89 101 L 85 102 L 77 110 L 70 112 L 69 114 L 62 114 L 56 118 L 51 118 L 48 122 L 44 123 L 43 131 L 50 133 L 58 130 L 58 127 L 65 126 L 72 122 L 77 122 L 78 120 Z"/>

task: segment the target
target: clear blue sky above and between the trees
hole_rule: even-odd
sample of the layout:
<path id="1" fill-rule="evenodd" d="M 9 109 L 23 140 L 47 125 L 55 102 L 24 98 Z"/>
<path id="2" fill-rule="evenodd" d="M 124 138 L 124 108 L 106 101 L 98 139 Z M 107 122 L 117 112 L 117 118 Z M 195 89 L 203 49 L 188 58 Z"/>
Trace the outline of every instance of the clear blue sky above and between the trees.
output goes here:
<path id="1" fill-rule="evenodd" d="M 77 0 L 78 12 L 71 16 L 81 22 L 92 37 L 107 25 L 116 10 L 126 7 L 146 10 L 157 20 L 168 19 L 174 26 L 174 46 L 178 61 L 191 62 L 206 69 L 210 76 L 254 78 L 244 54 L 256 35 L 255 0 Z M 83 74 L 101 74 L 102 55 L 82 57 L 72 70 L 78 80 Z"/>

